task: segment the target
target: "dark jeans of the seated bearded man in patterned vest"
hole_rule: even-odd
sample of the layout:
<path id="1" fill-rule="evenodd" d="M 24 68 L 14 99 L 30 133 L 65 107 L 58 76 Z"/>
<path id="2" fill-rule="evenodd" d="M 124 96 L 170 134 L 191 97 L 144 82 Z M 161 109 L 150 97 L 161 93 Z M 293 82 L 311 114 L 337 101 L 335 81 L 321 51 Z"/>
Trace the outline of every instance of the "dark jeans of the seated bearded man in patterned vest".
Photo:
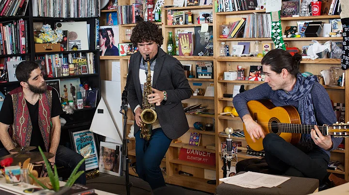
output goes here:
<path id="1" fill-rule="evenodd" d="M 0 156 L 5 156 L 10 154 L 5 148 L 0 148 Z M 59 145 L 56 152 L 56 166 L 57 167 L 67 167 L 70 169 L 70 172 L 73 172 L 74 168 L 78 165 L 80 160 L 82 160 L 82 156 L 79 153 L 76 153 L 70 150 L 67 147 Z M 23 162 L 22 162 L 23 163 Z M 80 170 L 85 171 L 85 162 L 79 167 L 78 172 Z M 86 173 L 80 175 L 80 177 L 75 181 L 76 183 L 86 184 Z"/>

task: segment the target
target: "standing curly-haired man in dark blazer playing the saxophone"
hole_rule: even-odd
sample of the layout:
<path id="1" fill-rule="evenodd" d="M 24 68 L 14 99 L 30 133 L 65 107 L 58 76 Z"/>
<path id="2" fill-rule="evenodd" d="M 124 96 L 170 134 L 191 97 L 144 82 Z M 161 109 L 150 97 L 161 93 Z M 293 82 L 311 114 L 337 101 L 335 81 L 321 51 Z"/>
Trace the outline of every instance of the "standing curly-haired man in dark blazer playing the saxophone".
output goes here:
<path id="1" fill-rule="evenodd" d="M 181 100 L 190 98 L 191 88 L 182 64 L 160 48 L 163 36 L 157 25 L 138 23 L 130 40 L 139 49 L 130 58 L 127 83 L 127 100 L 135 114 L 136 171 L 154 190 L 165 186 L 159 166 L 172 139 L 189 130 Z M 149 105 L 156 112 L 150 127 L 142 120 L 142 111 Z M 149 131 L 142 129 L 143 125 Z"/>

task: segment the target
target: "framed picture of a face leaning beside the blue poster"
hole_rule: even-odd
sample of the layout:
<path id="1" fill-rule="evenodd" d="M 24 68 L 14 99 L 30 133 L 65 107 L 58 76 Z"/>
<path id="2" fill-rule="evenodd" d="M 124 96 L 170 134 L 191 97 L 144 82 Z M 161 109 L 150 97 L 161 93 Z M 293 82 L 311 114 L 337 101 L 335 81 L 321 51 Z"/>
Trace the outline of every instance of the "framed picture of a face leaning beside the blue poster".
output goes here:
<path id="1" fill-rule="evenodd" d="M 115 176 L 121 174 L 122 145 L 111 142 L 100 142 L 99 171 Z"/>

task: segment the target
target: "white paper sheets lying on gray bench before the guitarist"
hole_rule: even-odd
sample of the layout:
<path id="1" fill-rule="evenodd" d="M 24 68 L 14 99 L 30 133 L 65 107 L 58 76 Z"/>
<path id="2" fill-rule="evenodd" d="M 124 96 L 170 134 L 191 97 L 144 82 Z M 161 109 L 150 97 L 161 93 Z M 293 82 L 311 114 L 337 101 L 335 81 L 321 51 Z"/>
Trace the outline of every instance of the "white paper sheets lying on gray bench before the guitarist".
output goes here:
<path id="1" fill-rule="evenodd" d="M 237 185 L 243 188 L 254 189 L 259 187 L 276 187 L 289 179 L 290 178 L 288 177 L 268 175 L 249 171 L 232 177 L 222 178 L 220 179 L 220 181 L 223 181 L 227 184 Z"/>

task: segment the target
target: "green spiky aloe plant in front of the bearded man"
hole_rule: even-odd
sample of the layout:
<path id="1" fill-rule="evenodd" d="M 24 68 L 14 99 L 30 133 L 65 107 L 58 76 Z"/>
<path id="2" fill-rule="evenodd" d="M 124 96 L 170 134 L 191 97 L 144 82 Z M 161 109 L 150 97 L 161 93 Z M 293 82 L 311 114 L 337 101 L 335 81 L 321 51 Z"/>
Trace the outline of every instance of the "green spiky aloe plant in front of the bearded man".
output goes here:
<path id="1" fill-rule="evenodd" d="M 58 172 L 57 172 L 57 167 L 56 165 L 54 165 L 54 172 L 52 171 L 52 168 L 48 162 L 48 159 L 46 158 L 45 154 L 43 153 L 43 151 L 41 150 L 40 146 L 38 147 L 39 148 L 39 151 L 44 159 L 44 162 L 45 162 L 45 165 L 46 165 L 46 168 L 47 168 L 47 171 L 48 171 L 48 177 L 51 181 L 51 184 L 52 184 L 52 187 L 53 187 L 53 190 L 55 192 L 58 192 L 60 190 L 60 186 L 59 186 L 59 180 L 58 180 Z M 85 161 L 85 158 L 82 159 L 78 165 L 74 168 L 73 172 L 70 174 L 70 177 L 68 179 L 68 181 L 65 183 L 64 186 L 66 187 L 71 187 L 74 182 L 80 177 L 80 175 L 82 173 L 84 173 L 85 171 L 78 171 L 79 167 L 82 165 L 82 163 Z M 37 182 L 41 187 L 43 187 L 44 189 L 48 189 L 48 187 L 46 187 L 43 183 L 41 183 L 40 181 L 38 181 L 33 175 L 32 173 L 29 173 L 29 176 L 35 181 Z"/>

